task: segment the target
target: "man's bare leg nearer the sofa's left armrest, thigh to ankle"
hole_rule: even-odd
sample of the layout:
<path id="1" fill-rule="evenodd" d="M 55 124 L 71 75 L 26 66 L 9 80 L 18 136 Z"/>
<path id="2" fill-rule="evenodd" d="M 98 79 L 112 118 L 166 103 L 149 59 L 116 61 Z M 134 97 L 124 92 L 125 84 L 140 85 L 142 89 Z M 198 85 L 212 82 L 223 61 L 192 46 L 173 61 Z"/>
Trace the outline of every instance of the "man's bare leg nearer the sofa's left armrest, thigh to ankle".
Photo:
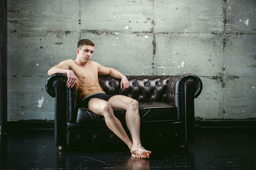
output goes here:
<path id="1" fill-rule="evenodd" d="M 92 98 L 88 103 L 88 109 L 105 118 L 106 125 L 112 130 L 131 150 L 133 144 L 129 136 L 126 134 L 122 123 L 115 117 L 113 109 L 109 102 L 99 98 Z"/>

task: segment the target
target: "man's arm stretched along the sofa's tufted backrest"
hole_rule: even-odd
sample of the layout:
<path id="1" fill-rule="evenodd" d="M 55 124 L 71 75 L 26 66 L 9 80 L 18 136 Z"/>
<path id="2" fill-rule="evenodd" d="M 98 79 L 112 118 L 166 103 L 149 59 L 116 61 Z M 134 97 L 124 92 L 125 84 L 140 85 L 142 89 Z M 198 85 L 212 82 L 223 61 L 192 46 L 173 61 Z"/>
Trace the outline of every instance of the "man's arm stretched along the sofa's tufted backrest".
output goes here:
<path id="1" fill-rule="evenodd" d="M 98 63 L 99 64 L 99 63 Z M 121 79 L 120 85 L 121 89 L 127 89 L 129 88 L 129 81 L 125 75 L 118 72 L 114 68 L 102 66 L 99 64 L 99 75 L 111 75 L 112 77 L 115 77 L 116 79 Z"/>

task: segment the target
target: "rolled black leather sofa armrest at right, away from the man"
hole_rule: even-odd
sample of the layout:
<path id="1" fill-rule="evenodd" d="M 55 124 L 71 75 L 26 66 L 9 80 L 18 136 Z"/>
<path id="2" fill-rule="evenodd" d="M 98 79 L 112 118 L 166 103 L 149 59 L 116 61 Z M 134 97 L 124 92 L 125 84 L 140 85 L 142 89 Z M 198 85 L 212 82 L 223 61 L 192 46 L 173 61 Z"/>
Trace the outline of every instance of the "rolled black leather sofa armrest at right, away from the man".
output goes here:
<path id="1" fill-rule="evenodd" d="M 168 103 L 175 105 L 178 111 L 178 119 L 182 121 L 182 143 L 194 141 L 195 109 L 194 98 L 202 91 L 201 79 L 194 74 L 175 75 L 170 78 L 167 85 Z"/>

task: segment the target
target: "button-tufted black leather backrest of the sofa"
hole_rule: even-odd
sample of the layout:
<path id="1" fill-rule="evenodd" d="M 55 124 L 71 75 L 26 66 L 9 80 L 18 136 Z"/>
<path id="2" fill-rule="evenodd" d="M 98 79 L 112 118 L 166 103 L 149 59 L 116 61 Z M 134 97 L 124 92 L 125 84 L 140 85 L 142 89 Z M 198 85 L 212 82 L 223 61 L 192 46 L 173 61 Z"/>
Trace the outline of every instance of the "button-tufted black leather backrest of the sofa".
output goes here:
<path id="1" fill-rule="evenodd" d="M 129 88 L 120 89 L 120 79 L 111 76 L 99 76 L 101 88 L 109 95 L 125 95 L 138 102 L 166 102 L 167 84 L 170 75 L 131 75 L 127 76 Z"/>

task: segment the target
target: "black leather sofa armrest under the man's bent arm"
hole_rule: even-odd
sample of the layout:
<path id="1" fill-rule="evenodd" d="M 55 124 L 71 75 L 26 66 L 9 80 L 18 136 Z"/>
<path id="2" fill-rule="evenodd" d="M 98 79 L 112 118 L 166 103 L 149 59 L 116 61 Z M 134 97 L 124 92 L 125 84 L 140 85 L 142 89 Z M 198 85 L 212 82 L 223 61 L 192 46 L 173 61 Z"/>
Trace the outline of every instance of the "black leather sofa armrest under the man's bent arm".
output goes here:
<path id="1" fill-rule="evenodd" d="M 66 144 L 67 122 L 76 121 L 77 91 L 76 86 L 67 88 L 67 76 L 63 73 L 50 75 L 45 82 L 45 89 L 55 97 L 54 128 L 56 145 Z"/>

